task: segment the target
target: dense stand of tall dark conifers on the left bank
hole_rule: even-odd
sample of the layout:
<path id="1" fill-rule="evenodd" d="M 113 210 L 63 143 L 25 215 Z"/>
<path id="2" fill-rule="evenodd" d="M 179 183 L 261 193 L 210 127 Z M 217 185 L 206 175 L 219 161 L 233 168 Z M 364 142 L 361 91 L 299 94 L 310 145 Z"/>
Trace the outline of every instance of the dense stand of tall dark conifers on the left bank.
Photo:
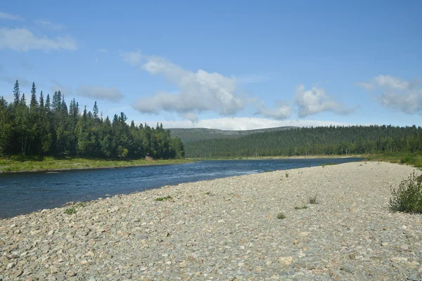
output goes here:
<path id="1" fill-rule="evenodd" d="M 91 111 L 81 112 L 73 98 L 70 105 L 57 91 L 44 99 L 42 91 L 32 84 L 29 106 L 19 82 L 13 89 L 13 103 L 0 96 L 0 156 L 39 155 L 96 157 L 110 159 L 159 159 L 184 157 L 180 138 L 157 124 L 127 124 L 123 112 L 113 120 L 103 119 L 97 103 Z"/>

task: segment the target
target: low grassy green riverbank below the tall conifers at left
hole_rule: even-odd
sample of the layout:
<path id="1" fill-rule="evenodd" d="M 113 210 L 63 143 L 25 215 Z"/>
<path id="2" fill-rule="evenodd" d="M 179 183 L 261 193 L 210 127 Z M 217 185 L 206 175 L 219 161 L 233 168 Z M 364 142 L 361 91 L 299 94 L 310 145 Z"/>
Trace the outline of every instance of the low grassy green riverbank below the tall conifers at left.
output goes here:
<path id="1" fill-rule="evenodd" d="M 128 166 L 151 166 L 191 163 L 187 159 L 107 160 L 83 158 L 4 159 L 0 158 L 0 173 L 22 171 L 63 171 L 77 169 L 110 169 Z"/>

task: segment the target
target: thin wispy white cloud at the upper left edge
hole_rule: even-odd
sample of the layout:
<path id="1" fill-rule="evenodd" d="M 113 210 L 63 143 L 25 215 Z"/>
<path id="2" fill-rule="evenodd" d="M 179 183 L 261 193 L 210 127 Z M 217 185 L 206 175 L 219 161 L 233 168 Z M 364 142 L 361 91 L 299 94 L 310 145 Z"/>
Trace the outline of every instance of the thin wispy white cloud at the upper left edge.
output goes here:
<path id="1" fill-rule="evenodd" d="M 29 50 L 70 50 L 77 49 L 76 40 L 70 35 L 50 39 L 46 36 L 37 37 L 26 28 L 0 27 L 0 49 L 10 48 L 14 51 Z"/>

